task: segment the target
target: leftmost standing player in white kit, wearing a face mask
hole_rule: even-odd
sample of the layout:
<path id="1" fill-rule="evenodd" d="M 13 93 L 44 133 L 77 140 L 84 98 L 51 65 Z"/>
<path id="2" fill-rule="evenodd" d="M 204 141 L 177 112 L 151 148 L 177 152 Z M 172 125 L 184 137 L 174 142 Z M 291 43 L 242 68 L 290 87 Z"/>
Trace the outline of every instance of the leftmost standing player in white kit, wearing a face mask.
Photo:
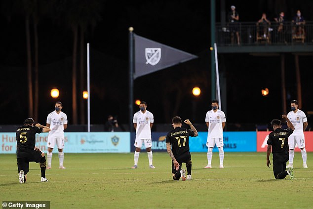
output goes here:
<path id="1" fill-rule="evenodd" d="M 49 113 L 47 117 L 47 126 L 50 127 L 48 135 L 48 153 L 47 153 L 47 169 L 51 169 L 52 151 L 56 144 L 59 151 L 59 168 L 65 169 L 64 161 L 64 129 L 67 128 L 67 116 L 61 110 L 63 108 L 62 102 L 55 103 L 55 111 Z"/>

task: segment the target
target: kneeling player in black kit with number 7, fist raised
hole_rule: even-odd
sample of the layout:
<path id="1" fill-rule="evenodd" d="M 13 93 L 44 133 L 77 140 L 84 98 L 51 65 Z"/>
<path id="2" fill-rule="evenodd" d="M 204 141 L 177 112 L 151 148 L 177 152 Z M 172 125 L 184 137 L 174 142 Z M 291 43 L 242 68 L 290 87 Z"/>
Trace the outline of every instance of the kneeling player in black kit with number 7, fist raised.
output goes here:
<path id="1" fill-rule="evenodd" d="M 266 153 L 266 165 L 270 167 L 270 154 L 273 152 L 273 171 L 276 179 L 284 179 L 288 174 L 290 179 L 294 179 L 293 168 L 286 170 L 286 163 L 289 160 L 288 137 L 292 134 L 295 127 L 286 115 L 281 116 L 287 121 L 287 129 L 281 128 L 280 120 L 273 120 L 271 125 L 274 129 L 269 134 L 268 148 Z"/>

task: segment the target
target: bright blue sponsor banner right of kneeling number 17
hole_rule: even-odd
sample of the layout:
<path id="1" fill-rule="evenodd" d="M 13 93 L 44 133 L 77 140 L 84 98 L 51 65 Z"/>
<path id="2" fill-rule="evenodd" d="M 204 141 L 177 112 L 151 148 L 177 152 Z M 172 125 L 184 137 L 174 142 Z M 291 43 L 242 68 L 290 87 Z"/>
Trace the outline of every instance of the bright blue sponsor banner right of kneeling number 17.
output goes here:
<path id="1" fill-rule="evenodd" d="M 207 132 L 198 132 L 197 137 L 189 138 L 191 152 L 207 152 Z M 225 152 L 256 152 L 255 131 L 226 131 L 223 132 Z M 215 146 L 213 152 L 218 152 Z"/>

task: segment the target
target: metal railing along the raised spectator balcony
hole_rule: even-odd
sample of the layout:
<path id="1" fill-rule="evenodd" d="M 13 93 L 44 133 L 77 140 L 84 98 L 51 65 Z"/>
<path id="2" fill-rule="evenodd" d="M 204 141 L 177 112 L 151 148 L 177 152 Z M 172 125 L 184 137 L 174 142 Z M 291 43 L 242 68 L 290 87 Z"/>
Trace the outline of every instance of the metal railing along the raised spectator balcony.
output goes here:
<path id="1" fill-rule="evenodd" d="M 216 42 L 220 46 L 244 45 L 293 45 L 313 44 L 313 22 L 296 25 L 284 22 L 283 25 L 256 22 L 216 24 Z"/>

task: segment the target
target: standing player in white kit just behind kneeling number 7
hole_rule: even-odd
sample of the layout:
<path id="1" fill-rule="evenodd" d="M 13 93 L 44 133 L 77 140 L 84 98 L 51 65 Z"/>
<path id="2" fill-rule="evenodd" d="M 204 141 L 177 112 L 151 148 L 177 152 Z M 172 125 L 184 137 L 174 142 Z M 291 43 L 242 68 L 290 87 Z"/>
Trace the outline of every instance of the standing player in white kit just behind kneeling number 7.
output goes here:
<path id="1" fill-rule="evenodd" d="M 287 117 L 291 121 L 292 125 L 295 126 L 295 130 L 288 138 L 289 145 L 289 167 L 293 167 L 293 158 L 295 157 L 295 145 L 297 144 L 301 150 L 303 167 L 308 168 L 307 165 L 307 151 L 306 142 L 304 139 L 304 130 L 308 126 L 308 120 L 306 114 L 298 109 L 298 101 L 292 100 L 290 102 L 291 111 L 288 113 Z"/>

